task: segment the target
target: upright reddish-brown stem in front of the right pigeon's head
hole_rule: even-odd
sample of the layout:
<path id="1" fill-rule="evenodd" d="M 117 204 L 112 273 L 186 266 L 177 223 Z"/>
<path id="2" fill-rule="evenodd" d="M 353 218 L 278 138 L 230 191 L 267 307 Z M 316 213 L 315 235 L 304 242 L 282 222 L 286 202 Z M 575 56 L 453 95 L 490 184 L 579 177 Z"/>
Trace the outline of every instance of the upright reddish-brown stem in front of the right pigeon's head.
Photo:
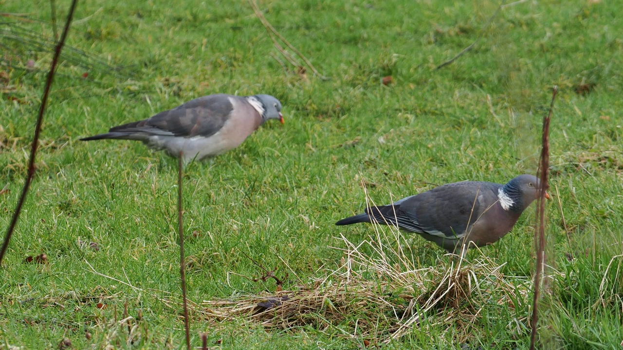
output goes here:
<path id="1" fill-rule="evenodd" d="M 558 87 L 554 85 L 551 93 L 549 113 L 545 118 L 543 118 L 543 140 L 541 141 L 541 157 L 539 160 L 541 191 L 539 197 L 536 199 L 536 271 L 534 281 L 534 300 L 532 303 L 530 350 L 535 349 L 536 324 L 538 321 L 538 300 L 541 287 L 541 275 L 543 273 L 543 260 L 545 258 L 545 194 L 549 189 L 549 121 L 551 120 L 551 114 L 554 109 L 554 99 L 556 98 L 557 92 Z M 539 171 L 537 171 L 537 175 L 539 175 Z"/>

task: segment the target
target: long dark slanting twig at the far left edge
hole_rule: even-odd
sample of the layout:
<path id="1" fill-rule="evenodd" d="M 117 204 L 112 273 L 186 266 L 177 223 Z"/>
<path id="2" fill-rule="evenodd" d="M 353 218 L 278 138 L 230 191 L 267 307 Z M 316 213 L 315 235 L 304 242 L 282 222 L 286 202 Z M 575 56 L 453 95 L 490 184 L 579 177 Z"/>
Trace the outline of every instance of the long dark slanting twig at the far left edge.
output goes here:
<path id="1" fill-rule="evenodd" d="M 28 194 L 28 189 L 31 186 L 32 177 L 34 176 L 35 171 L 36 171 L 35 156 L 37 155 L 37 147 L 39 146 L 39 135 L 41 133 L 41 125 L 43 123 L 43 115 L 45 112 L 45 106 L 47 105 L 47 98 L 50 94 L 50 87 L 52 87 L 52 80 L 54 80 L 54 73 L 56 72 L 56 66 L 59 63 L 60 51 L 63 49 L 63 45 L 65 45 L 65 39 L 67 38 L 67 33 L 69 32 L 69 27 L 70 27 L 70 24 L 72 23 L 72 18 L 74 17 L 74 10 L 75 10 L 77 2 L 78 2 L 77 0 L 72 0 L 72 4 L 69 7 L 69 13 L 67 14 L 67 21 L 65 21 L 65 28 L 63 29 L 63 34 L 60 36 L 60 40 L 56 44 L 56 47 L 54 49 L 54 56 L 52 57 L 52 64 L 50 64 L 50 72 L 47 74 L 47 80 L 45 82 L 45 90 L 43 93 L 43 97 L 41 98 L 41 105 L 39 106 L 39 115 L 37 116 L 37 124 L 35 126 L 35 133 L 32 138 L 31 158 L 28 162 L 28 174 L 26 175 L 26 182 L 24 182 L 22 195 L 19 197 L 19 201 L 17 202 L 15 212 L 13 213 L 11 224 L 9 224 L 9 228 L 6 230 L 4 243 L 2 244 L 2 249 L 0 250 L 0 265 L 2 264 L 2 258 L 4 258 L 4 253 L 6 253 L 6 249 L 7 247 L 9 247 L 9 241 L 11 241 L 11 235 L 13 234 L 13 230 L 15 230 L 15 226 L 17 225 L 17 219 L 19 218 L 19 213 L 22 211 L 22 206 L 24 206 L 24 200 L 26 199 L 26 195 Z"/>

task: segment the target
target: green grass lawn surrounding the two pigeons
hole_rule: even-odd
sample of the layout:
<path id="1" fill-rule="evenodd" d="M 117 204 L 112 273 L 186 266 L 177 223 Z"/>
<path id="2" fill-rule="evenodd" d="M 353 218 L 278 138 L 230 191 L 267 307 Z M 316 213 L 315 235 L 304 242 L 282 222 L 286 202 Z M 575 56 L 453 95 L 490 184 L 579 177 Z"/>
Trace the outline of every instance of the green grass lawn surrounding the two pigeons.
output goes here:
<path id="1" fill-rule="evenodd" d="M 0 4 L 4 12 L 43 21 L 19 24 L 52 37 L 49 2 Z M 62 21 L 69 1 L 56 4 Z M 369 196 L 384 203 L 430 189 L 429 183 L 505 182 L 535 173 L 554 84 L 559 96 L 551 125 L 551 185 L 560 196 L 547 206 L 547 260 L 555 277 L 541 308 L 541 346 L 619 348 L 622 258 L 612 258 L 623 250 L 623 4 L 528 1 L 505 7 L 473 50 L 440 70 L 435 66 L 475 40 L 498 2 L 259 5 L 329 80 L 310 72 L 302 77 L 291 66 L 285 71 L 270 56 L 283 60 L 246 1 L 79 2 L 67 44 L 123 69 L 108 70 L 64 50 L 37 174 L 0 272 L 0 349 L 58 348 L 62 338 L 77 349 L 184 347 L 179 308 L 160 300 L 181 293 L 177 163 L 140 143 L 82 143 L 80 137 L 210 93 L 269 93 L 281 100 L 285 125 L 267 123 L 239 148 L 185 169 L 188 297 L 199 302 L 275 291 L 273 280 L 239 276 L 262 274 L 249 257 L 277 268 L 280 277 L 288 272 L 283 288 L 297 284 L 294 273 L 310 280 L 338 268 L 343 253 L 330 247 L 344 247 L 335 237 L 343 233 L 356 243 L 372 232 L 368 225 L 333 225 L 363 209 L 360 174 L 376 185 Z M 51 54 L 3 35 L 4 229 L 26 174 Z M 23 68 L 29 59 L 35 70 Z M 85 72 L 88 78 L 82 78 Z M 392 75 L 391 85 L 381 83 L 386 75 Z M 576 93 L 583 84 L 592 90 Z M 534 270 L 534 211 L 526 210 L 511 234 L 483 249 L 495 263 L 506 263 L 507 276 L 525 280 Z M 99 250 L 83 242 L 95 242 Z M 450 263 L 419 237 L 407 244 L 421 268 L 443 270 Z M 47 264 L 24 263 L 40 253 Z M 143 291 L 97 275 L 89 264 Z M 527 348 L 530 300 L 526 296 L 525 307 L 515 311 L 483 305 L 471 325 L 431 314 L 421 329 L 384 348 L 460 349 L 466 336 L 474 348 Z M 141 334 L 133 345 L 125 325 L 115 323 L 126 301 L 128 315 L 141 313 L 133 321 Z M 519 331 L 509 326 L 512 318 L 523 318 Z M 205 331 L 209 344 L 221 339 L 224 349 L 363 344 L 314 324 L 266 331 L 244 318 L 214 324 L 198 313 L 191 328 L 195 346 Z"/>

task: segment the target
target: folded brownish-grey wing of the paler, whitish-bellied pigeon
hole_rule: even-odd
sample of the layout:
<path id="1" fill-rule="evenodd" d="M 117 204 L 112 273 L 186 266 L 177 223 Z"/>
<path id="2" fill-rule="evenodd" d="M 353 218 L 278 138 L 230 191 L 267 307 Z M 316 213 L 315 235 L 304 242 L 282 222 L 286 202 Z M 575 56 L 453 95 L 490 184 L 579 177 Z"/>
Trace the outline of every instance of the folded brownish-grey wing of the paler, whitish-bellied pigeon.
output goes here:
<path id="1" fill-rule="evenodd" d="M 114 131 L 145 133 L 154 136 L 209 137 L 216 134 L 231 117 L 231 95 L 199 97 L 151 118 L 115 126 Z"/>

